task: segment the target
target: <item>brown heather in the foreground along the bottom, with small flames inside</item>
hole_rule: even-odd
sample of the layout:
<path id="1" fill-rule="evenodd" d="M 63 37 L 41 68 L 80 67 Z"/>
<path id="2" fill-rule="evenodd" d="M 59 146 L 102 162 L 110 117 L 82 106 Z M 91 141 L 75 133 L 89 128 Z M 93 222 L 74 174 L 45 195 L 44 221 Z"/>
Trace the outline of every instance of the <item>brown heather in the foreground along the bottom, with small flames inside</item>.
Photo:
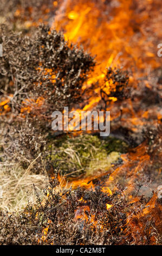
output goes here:
<path id="1" fill-rule="evenodd" d="M 49 178 L 43 199 L 36 191 L 35 205 L 28 203 L 17 214 L 1 212 L 1 245 L 161 244 L 159 199 L 146 214 L 148 199 L 141 196 L 131 203 L 119 184 L 112 195 L 99 182 L 89 190 L 62 190 L 58 171 L 55 179 Z"/>

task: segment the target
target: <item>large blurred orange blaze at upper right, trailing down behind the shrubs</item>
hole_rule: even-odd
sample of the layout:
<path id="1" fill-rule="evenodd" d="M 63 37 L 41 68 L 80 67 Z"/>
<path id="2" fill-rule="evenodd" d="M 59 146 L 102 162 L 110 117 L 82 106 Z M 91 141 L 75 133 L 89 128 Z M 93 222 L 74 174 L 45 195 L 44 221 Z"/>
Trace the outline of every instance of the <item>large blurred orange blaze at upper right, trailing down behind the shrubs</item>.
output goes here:
<path id="1" fill-rule="evenodd" d="M 147 33 L 145 32 L 145 23 L 148 19 L 148 11 L 152 1 L 142 1 L 142 6 L 146 10 L 141 15 L 136 14 L 134 9 L 141 8 L 140 1 L 137 1 L 137 7 L 134 8 L 132 0 L 112 1 L 107 4 L 106 1 L 93 0 L 85 1 L 62 1 L 57 15 L 54 17 L 51 29 L 63 30 L 64 37 L 69 43 L 74 42 L 83 45 L 85 50 L 95 56 L 98 63 L 94 73 L 83 89 L 88 88 L 91 84 L 98 82 L 99 86 L 95 89 L 97 96 L 91 96 L 89 102 L 83 107 L 83 111 L 93 109 L 100 100 L 100 88 L 105 78 L 106 68 L 112 66 L 124 66 L 124 69 L 135 70 L 130 78 L 132 87 L 136 87 L 139 77 L 147 75 L 147 66 L 155 69 L 160 66 L 160 60 L 156 57 L 153 48 L 154 38 L 150 36 L 148 42 Z M 152 19 L 155 32 L 160 37 L 160 20 L 159 22 Z M 148 25 L 147 25 L 148 27 Z M 147 42 L 147 43 L 146 43 Z M 150 86 L 145 80 L 146 86 Z M 107 82 L 106 93 L 109 92 L 110 84 Z M 116 97 L 109 97 L 112 102 L 118 102 Z M 145 124 L 141 117 L 147 119 L 147 112 L 134 112 L 134 106 L 131 100 L 128 100 L 126 108 L 122 109 L 123 117 L 121 121 L 129 123 L 133 131 L 137 131 L 138 126 Z M 117 106 L 117 105 L 116 105 Z M 109 111 L 115 109 L 114 105 L 109 106 Z M 118 108 L 119 109 L 119 108 Z M 127 114 L 126 114 L 127 113 Z M 114 114 L 111 119 L 118 117 Z M 125 115 L 125 117 L 124 117 Z M 157 112 L 157 116 L 160 113 Z"/>

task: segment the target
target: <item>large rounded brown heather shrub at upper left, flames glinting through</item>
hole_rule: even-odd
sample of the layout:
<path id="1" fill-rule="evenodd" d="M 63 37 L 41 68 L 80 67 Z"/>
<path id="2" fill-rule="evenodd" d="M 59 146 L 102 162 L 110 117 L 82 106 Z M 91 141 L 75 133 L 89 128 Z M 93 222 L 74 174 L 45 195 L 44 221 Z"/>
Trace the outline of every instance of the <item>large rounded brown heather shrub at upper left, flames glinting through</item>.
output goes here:
<path id="1" fill-rule="evenodd" d="M 79 102 L 82 84 L 95 65 L 89 54 L 68 46 L 61 33 L 45 25 L 30 37 L 1 26 L 1 42 L 1 97 L 10 96 L 12 113 L 48 119 L 54 110 Z"/>

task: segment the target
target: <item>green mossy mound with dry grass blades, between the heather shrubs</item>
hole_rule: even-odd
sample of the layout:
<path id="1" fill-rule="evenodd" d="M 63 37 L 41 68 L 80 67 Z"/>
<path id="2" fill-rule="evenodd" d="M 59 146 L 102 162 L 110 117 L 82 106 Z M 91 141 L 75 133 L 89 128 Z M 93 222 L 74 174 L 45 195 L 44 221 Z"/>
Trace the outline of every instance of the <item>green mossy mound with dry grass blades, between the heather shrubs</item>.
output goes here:
<path id="1" fill-rule="evenodd" d="M 126 143 L 119 139 L 108 137 L 102 140 L 93 135 L 63 136 L 49 145 L 51 160 L 60 163 L 62 174 L 72 176 L 83 172 L 86 175 L 107 172 L 126 148 Z"/>

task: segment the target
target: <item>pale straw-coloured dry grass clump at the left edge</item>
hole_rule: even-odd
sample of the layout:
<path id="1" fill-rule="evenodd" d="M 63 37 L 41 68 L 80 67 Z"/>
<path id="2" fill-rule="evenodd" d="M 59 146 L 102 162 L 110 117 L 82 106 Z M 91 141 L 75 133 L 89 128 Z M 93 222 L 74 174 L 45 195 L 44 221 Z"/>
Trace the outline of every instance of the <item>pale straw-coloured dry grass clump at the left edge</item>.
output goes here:
<path id="1" fill-rule="evenodd" d="M 0 210 L 14 212 L 21 211 L 29 202 L 36 203 L 34 186 L 43 197 L 46 186 L 46 176 L 31 174 L 29 168 L 24 170 L 18 164 L 0 167 Z M 28 195 L 27 195 L 28 192 Z"/>

